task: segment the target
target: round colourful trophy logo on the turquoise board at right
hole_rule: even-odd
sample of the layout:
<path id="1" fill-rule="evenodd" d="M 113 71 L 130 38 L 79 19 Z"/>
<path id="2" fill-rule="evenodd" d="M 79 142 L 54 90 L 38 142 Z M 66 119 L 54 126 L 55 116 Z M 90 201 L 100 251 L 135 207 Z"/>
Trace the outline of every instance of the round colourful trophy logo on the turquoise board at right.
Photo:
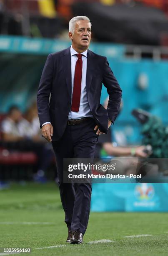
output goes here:
<path id="1" fill-rule="evenodd" d="M 152 184 L 138 184 L 135 187 L 135 197 L 139 200 L 150 200 L 153 198 L 155 190 Z"/>

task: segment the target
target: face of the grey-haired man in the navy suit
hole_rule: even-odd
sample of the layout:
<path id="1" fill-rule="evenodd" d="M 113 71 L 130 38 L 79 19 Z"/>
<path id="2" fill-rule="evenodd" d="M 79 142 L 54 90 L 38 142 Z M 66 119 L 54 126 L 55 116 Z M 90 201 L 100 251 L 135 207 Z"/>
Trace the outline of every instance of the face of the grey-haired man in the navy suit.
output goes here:
<path id="1" fill-rule="evenodd" d="M 91 39 L 91 26 L 88 20 L 78 20 L 75 23 L 75 30 L 73 33 L 69 32 L 69 37 L 76 49 L 88 49 Z"/>

